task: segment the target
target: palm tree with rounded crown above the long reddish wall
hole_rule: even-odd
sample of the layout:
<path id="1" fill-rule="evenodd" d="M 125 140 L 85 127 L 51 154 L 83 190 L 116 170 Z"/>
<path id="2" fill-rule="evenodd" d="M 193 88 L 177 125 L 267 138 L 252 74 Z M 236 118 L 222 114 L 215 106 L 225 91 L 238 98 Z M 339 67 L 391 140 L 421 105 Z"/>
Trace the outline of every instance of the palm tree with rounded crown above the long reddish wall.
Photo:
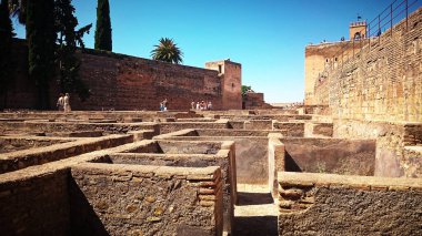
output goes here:
<path id="1" fill-rule="evenodd" d="M 173 39 L 161 38 L 160 44 L 154 45 L 154 50 L 151 51 L 153 60 L 165 61 L 174 64 L 182 63 L 183 53 L 180 51 Z"/>

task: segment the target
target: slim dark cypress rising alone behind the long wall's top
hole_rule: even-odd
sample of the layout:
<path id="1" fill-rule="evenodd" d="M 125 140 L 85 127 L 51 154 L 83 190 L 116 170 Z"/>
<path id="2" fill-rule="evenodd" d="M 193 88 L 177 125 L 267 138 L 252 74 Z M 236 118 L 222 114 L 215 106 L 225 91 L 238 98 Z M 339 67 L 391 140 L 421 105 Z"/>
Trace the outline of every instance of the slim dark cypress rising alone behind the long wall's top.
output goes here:
<path id="1" fill-rule="evenodd" d="M 98 0 L 94 49 L 112 51 L 109 0 Z"/>

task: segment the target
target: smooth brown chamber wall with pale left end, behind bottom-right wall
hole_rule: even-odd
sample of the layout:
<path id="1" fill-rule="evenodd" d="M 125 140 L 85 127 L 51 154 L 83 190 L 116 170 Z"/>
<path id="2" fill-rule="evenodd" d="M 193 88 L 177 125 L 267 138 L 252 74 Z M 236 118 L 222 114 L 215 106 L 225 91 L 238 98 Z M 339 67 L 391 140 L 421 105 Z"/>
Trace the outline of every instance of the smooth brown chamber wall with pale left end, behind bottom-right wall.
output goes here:
<path id="1" fill-rule="evenodd" d="M 374 140 L 274 136 L 269 147 L 269 186 L 274 198 L 279 172 L 374 175 Z"/>

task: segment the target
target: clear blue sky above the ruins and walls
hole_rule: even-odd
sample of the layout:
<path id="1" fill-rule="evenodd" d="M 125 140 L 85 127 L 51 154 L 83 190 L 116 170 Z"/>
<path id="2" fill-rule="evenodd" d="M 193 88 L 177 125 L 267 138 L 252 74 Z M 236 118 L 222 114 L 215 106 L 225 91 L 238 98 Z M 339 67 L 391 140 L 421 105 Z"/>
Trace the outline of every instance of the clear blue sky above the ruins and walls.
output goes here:
<path id="1" fill-rule="evenodd" d="M 93 23 L 84 38 L 87 48 L 93 48 L 97 0 L 72 2 L 80 27 Z M 242 83 L 263 92 L 267 102 L 300 102 L 304 47 L 348 38 L 358 13 L 372 20 L 391 2 L 110 0 L 113 51 L 150 58 L 161 37 L 172 38 L 184 53 L 183 64 L 203 68 L 207 61 L 230 58 L 242 64 Z M 24 27 L 14 29 L 24 35 Z"/>

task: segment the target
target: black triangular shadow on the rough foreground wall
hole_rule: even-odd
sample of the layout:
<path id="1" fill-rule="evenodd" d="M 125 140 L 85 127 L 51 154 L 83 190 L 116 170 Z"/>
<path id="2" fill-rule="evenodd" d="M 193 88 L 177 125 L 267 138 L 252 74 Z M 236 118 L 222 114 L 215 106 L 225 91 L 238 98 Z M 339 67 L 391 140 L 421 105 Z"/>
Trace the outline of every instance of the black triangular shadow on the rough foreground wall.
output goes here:
<path id="1" fill-rule="evenodd" d="M 69 177 L 71 235 L 109 235 L 78 184 Z"/>

